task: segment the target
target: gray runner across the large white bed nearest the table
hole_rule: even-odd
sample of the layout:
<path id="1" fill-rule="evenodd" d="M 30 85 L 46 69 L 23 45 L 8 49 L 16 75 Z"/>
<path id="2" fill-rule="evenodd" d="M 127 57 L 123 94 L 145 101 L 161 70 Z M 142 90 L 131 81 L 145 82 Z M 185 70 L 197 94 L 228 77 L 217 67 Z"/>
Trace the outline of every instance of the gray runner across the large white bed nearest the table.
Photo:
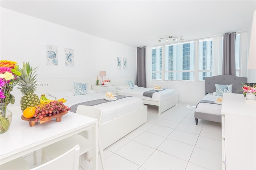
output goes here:
<path id="1" fill-rule="evenodd" d="M 125 97 L 131 97 L 131 96 L 117 95 L 115 97 L 117 98 L 116 100 L 118 100 L 118 99 L 123 99 Z M 112 101 L 116 101 L 116 100 L 112 100 Z M 92 101 L 85 101 L 85 102 L 78 103 L 78 104 L 75 104 L 75 105 L 71 106 L 70 107 L 70 111 L 76 113 L 76 109 L 77 109 L 78 105 L 94 106 L 94 105 L 99 105 L 99 104 L 107 103 L 107 102 L 111 102 L 111 101 L 108 101 L 108 100 L 105 100 L 105 99 L 97 99 L 97 100 L 92 100 Z"/>

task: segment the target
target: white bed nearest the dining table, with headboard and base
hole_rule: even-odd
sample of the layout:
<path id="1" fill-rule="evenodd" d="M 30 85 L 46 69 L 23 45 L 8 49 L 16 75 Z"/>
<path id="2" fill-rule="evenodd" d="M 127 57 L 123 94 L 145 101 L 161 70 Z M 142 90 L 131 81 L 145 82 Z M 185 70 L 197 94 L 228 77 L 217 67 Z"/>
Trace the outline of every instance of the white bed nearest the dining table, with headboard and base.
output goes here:
<path id="1" fill-rule="evenodd" d="M 74 89 L 73 82 L 87 83 L 89 94 L 70 96 L 70 91 Z M 68 107 L 83 101 L 102 99 L 104 96 L 102 93 L 95 93 L 91 90 L 91 79 L 88 78 L 40 79 L 37 83 L 48 85 L 38 87 L 36 93 L 39 96 L 40 94 L 46 94 L 50 99 L 64 97 L 67 99 L 65 105 Z M 136 107 L 132 106 L 135 105 L 134 102 L 138 104 L 136 104 Z M 110 106 L 107 107 L 107 105 Z M 126 97 L 92 107 L 102 109 L 101 139 L 103 149 L 147 122 L 147 106 L 144 106 L 142 100 L 136 97 Z M 124 112 L 124 107 L 126 112 Z M 104 115 L 104 112 L 110 113 L 110 116 Z"/>

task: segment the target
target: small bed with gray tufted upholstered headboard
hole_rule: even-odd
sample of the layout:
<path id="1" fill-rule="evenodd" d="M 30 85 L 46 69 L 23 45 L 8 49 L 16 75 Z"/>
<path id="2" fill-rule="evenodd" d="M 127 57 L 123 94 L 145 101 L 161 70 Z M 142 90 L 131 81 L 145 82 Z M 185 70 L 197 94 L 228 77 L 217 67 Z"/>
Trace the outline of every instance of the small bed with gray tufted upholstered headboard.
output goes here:
<path id="1" fill-rule="evenodd" d="M 214 121 L 221 123 L 221 103 L 217 102 L 217 99 L 221 99 L 220 95 L 216 95 L 217 85 L 232 85 L 230 92 L 243 93 L 241 91 L 241 84 L 247 82 L 247 77 L 237 77 L 233 75 L 216 75 L 212 77 L 206 77 L 204 82 L 206 95 L 196 106 L 194 117 L 196 119 L 196 125 L 198 119 L 204 119 L 207 121 Z M 211 94 L 208 94 L 211 93 Z M 208 103 L 208 101 L 212 101 Z M 215 103 L 214 103 L 215 101 Z"/>

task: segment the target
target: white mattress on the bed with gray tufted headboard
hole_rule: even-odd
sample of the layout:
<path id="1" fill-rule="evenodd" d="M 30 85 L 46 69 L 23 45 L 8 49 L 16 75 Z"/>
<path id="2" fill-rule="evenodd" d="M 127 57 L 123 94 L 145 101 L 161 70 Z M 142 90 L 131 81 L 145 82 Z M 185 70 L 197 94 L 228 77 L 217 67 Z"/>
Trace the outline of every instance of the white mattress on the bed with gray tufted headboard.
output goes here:
<path id="1" fill-rule="evenodd" d="M 202 100 L 216 101 L 220 96 L 206 95 Z M 196 112 L 210 113 L 214 115 L 221 115 L 221 106 L 218 104 L 199 103 L 196 107 Z"/>

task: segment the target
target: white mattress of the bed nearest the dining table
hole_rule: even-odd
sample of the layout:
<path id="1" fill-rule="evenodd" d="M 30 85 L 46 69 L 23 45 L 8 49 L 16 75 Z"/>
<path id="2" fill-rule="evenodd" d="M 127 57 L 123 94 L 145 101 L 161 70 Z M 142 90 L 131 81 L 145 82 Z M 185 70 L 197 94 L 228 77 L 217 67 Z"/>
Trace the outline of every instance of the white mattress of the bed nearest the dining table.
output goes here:
<path id="1" fill-rule="evenodd" d="M 67 101 L 64 104 L 68 107 L 71 107 L 77 103 L 92 101 L 96 99 L 103 99 L 104 96 L 105 94 L 103 93 L 70 96 L 65 97 Z M 107 103 L 94 105 L 92 107 L 96 107 L 102 110 L 102 123 L 104 123 L 106 121 L 111 121 L 116 117 L 120 117 L 121 115 L 125 115 L 126 113 L 143 107 L 143 101 L 142 99 L 137 97 L 125 97 L 123 99 L 118 99 L 116 101 L 110 101 Z"/>

